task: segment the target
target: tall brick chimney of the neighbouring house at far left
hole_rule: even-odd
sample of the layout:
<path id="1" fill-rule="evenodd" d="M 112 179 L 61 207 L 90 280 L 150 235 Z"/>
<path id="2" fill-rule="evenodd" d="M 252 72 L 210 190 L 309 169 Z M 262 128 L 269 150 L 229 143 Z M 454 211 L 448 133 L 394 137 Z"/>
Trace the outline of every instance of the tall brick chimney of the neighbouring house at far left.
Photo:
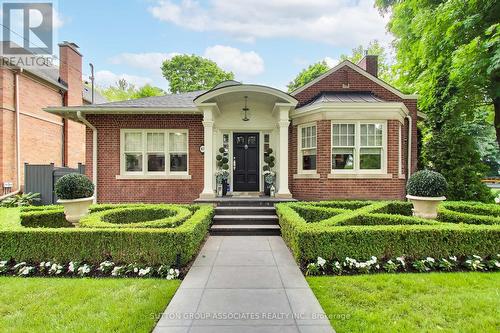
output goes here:
<path id="1" fill-rule="evenodd" d="M 82 54 L 75 43 L 59 44 L 59 78 L 68 86 L 65 106 L 82 105 Z"/>

